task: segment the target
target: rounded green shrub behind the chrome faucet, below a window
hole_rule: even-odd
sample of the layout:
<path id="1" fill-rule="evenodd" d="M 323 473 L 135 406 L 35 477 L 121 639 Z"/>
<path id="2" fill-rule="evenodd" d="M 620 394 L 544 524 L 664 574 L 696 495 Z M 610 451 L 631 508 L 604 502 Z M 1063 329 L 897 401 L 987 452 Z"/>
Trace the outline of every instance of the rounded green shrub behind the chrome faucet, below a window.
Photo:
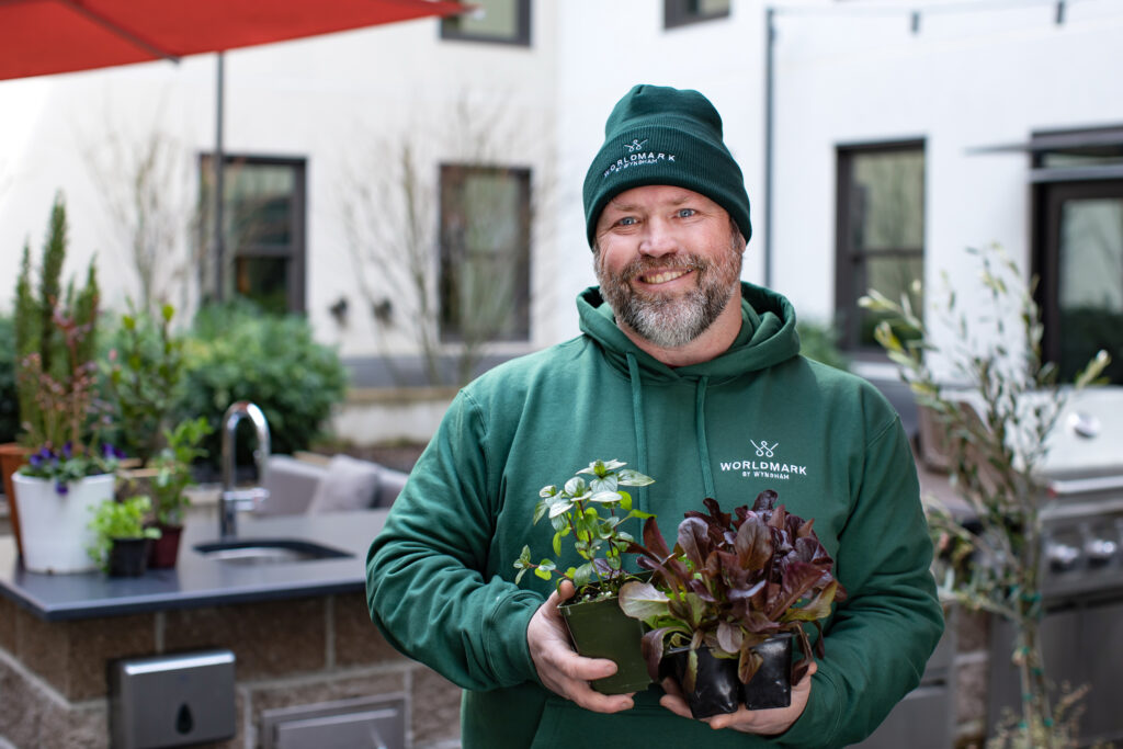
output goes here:
<path id="1" fill-rule="evenodd" d="M 176 413 L 216 426 L 202 444 L 211 465 L 221 455 L 222 415 L 235 401 L 256 403 L 270 422 L 272 450 L 292 454 L 321 435 L 346 392 L 338 354 L 312 339 L 304 318 L 267 316 L 245 301 L 202 308 L 184 358 Z"/>

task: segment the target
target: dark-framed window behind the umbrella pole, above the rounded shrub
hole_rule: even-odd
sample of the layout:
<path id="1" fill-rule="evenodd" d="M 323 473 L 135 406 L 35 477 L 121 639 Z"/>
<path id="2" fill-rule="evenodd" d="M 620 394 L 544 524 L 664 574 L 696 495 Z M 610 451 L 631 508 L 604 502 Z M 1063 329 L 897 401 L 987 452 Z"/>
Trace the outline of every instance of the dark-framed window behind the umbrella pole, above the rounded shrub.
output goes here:
<path id="1" fill-rule="evenodd" d="M 274 313 L 304 311 L 305 163 L 300 158 L 228 155 L 222 165 L 222 273 L 216 272 L 213 156 L 200 159 L 206 207 L 203 291 L 245 296 Z M 222 289 L 218 289 L 221 277 Z"/>

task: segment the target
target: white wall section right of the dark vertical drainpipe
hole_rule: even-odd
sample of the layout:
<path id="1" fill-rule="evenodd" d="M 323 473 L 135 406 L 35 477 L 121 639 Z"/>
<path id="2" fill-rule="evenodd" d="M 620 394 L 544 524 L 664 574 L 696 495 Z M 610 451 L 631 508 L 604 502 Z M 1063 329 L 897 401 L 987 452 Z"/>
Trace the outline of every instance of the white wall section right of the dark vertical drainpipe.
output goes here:
<path id="1" fill-rule="evenodd" d="M 778 3 L 774 285 L 804 317 L 834 304 L 836 148 L 923 138 L 925 284 L 1004 246 L 1030 265 L 1029 157 L 974 149 L 1123 122 L 1123 7 L 1069 2 Z"/>

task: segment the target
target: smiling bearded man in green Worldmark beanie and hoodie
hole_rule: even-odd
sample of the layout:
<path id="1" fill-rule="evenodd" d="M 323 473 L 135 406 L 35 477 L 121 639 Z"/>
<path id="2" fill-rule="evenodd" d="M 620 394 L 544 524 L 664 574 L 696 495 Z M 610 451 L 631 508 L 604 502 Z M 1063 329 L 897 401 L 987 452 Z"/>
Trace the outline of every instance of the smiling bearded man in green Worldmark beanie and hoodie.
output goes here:
<path id="1" fill-rule="evenodd" d="M 371 547 L 372 619 L 466 689 L 469 749 L 858 741 L 943 628 L 900 420 L 868 383 L 798 356 L 787 300 L 740 282 L 749 200 L 709 100 L 636 86 L 605 136 L 584 189 L 600 287 L 577 300 L 583 335 L 457 395 Z M 551 556 L 531 526 L 539 487 L 611 458 L 656 479 L 633 496 L 668 538 L 706 496 L 730 509 L 775 488 L 814 518 L 849 596 L 789 707 L 696 721 L 670 684 L 600 694 L 588 682 L 615 665 L 573 651 L 557 611 L 572 586 L 512 583 L 524 544 Z"/>

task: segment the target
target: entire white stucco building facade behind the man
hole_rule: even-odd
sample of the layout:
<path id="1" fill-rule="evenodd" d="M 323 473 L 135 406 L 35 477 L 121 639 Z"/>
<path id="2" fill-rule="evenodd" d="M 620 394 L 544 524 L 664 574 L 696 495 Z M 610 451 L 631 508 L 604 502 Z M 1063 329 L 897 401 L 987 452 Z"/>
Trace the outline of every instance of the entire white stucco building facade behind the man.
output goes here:
<path id="1" fill-rule="evenodd" d="M 572 300 L 594 282 L 581 185 L 612 104 L 639 82 L 696 88 L 721 111 L 746 175 L 754 238 L 743 276 L 764 280 L 766 3 L 732 0 L 728 18 L 664 27 L 655 0 L 533 0 L 529 47 L 441 40 L 437 21 L 349 31 L 226 55 L 228 153 L 307 159 L 305 309 L 320 340 L 348 357 L 378 353 L 362 310 L 340 326 L 337 299 L 362 308 L 340 222 L 348 179 L 393 158 L 407 135 L 431 173 L 466 157 L 449 121 L 458 103 L 495 115 L 491 156 L 526 166 L 541 198 L 531 262 L 531 338 L 577 331 Z M 802 317 L 836 311 L 837 149 L 922 140 L 924 275 L 969 290 L 968 246 L 1003 245 L 1030 266 L 1030 161 L 978 153 L 1034 133 L 1123 124 L 1123 3 L 1115 0 L 776 0 L 772 285 Z M 919 13 L 914 21 L 912 12 Z M 1062 15 L 1062 19 L 1059 19 Z M 106 300 L 134 293 L 124 249 L 83 161 L 117 128 L 153 130 L 189 162 L 214 141 L 213 55 L 180 65 L 0 82 L 0 261 L 15 268 L 43 239 L 52 197 L 71 211 L 71 267 L 97 250 Z M 111 122 L 107 126 L 106 122 Z M 186 170 L 179 199 L 198 193 Z M 436 195 L 433 195 L 436 200 Z M 180 250 L 182 252 L 182 249 Z M 15 274 L 0 283 L 9 309 Z M 387 290 L 393 293 L 394 290 Z M 409 353 L 408 337 L 383 338 Z"/>

